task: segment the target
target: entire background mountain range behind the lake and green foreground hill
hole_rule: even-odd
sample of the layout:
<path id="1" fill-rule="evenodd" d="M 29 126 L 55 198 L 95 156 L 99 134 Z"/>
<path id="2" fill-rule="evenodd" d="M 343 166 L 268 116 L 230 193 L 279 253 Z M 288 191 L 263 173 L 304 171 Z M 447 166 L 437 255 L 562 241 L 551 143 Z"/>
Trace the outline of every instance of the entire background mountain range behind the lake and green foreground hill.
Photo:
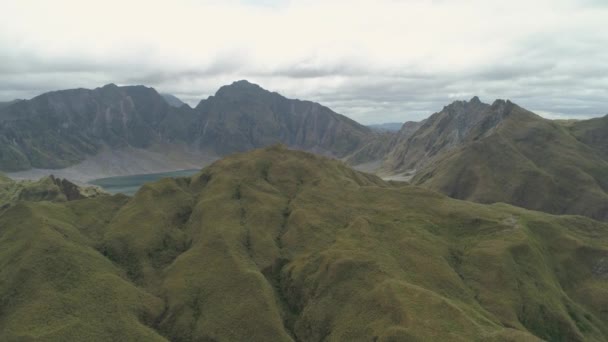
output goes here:
<path id="1" fill-rule="evenodd" d="M 508 100 L 456 101 L 390 132 L 247 81 L 195 108 L 152 88 L 110 84 L 0 108 L 0 169 L 86 181 L 200 168 L 283 143 L 458 199 L 608 220 L 607 137 L 608 116 L 548 120 Z"/>

